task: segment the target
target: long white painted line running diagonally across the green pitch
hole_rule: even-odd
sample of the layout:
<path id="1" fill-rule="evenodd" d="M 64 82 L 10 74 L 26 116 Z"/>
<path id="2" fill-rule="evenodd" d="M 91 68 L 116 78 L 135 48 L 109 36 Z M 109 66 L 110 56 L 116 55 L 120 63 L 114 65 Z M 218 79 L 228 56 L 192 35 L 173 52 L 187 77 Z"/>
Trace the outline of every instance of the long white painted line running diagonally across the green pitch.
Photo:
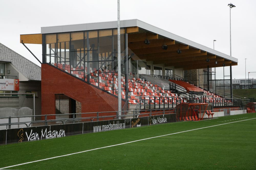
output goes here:
<path id="1" fill-rule="evenodd" d="M 252 119 L 256 119 L 256 118 L 252 118 Z M 252 119 L 247 119 L 247 120 L 252 120 Z M 240 121 L 236 121 L 236 122 L 242 122 L 242 121 L 247 121 L 247 120 L 240 120 Z M 193 130 L 199 130 L 199 129 L 204 129 L 204 128 L 208 128 L 208 127 L 226 125 L 226 124 L 236 123 L 236 122 L 223 123 L 223 124 L 219 124 L 219 125 L 213 125 L 213 126 L 201 127 L 201 128 L 197 128 L 197 129 L 186 130 L 186 131 L 183 131 L 183 132 L 176 132 L 176 133 L 171 133 L 171 134 L 167 134 L 167 135 L 161 135 L 161 136 L 155 136 L 155 137 L 151 137 L 151 138 L 145 138 L 145 139 L 140 139 L 140 140 L 134 140 L 134 141 L 130 141 L 130 142 L 119 143 L 119 144 L 116 144 L 116 145 L 110 145 L 110 146 L 105 146 L 105 147 L 101 147 L 101 148 L 90 149 L 90 150 L 81 151 L 81 152 L 76 152 L 76 153 L 70 153 L 70 154 L 61 155 L 61 156 L 55 156 L 55 157 L 52 157 L 52 158 L 46 158 L 46 159 L 41 159 L 41 160 L 37 160 L 37 161 L 31 161 L 31 162 L 26 162 L 26 163 L 22 163 L 22 164 L 17 164 L 17 165 L 12 165 L 12 166 L 6 166 L 6 167 L 0 168 L 0 169 L 6 169 L 6 168 L 11 168 L 11 167 L 15 167 L 15 166 L 30 164 L 30 163 L 34 163 L 34 162 L 40 162 L 40 161 L 45 161 L 45 160 L 49 160 L 49 159 L 54 159 L 54 158 L 60 158 L 60 157 L 64 157 L 64 156 L 74 155 L 74 154 L 78 154 L 78 153 L 83 153 L 83 152 L 88 152 L 88 151 L 93 151 L 93 150 L 98 150 L 98 149 L 103 149 L 103 148 L 109 148 L 109 147 L 113 147 L 113 146 L 124 145 L 124 144 L 127 144 L 127 143 L 133 143 L 133 142 L 138 142 L 138 141 L 142 141 L 142 140 L 153 139 L 153 138 L 158 138 L 158 137 L 163 137 L 163 136 L 168 136 L 168 135 L 174 135 L 174 134 L 189 132 L 189 131 L 193 131 Z"/>

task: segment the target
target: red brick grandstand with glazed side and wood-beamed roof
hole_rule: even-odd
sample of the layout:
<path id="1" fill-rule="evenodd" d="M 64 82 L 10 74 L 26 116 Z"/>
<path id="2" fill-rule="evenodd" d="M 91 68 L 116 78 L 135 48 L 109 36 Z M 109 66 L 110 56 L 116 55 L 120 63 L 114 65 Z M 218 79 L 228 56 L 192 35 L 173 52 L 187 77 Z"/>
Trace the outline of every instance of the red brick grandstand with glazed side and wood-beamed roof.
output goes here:
<path id="1" fill-rule="evenodd" d="M 42 114 L 56 114 L 59 94 L 69 98 L 69 113 L 117 111 L 119 83 L 127 113 L 180 103 L 207 103 L 207 110 L 241 107 L 230 81 L 238 59 L 137 19 L 121 21 L 118 82 L 116 28 L 113 21 L 42 27 L 40 34 L 20 35 L 23 44 L 42 44 Z M 215 67 L 229 67 L 229 76 L 223 73 L 229 86 L 212 87 Z M 184 78 L 185 71 L 196 69 L 207 70 L 201 80 L 206 86 Z M 213 88 L 223 89 L 223 96 Z"/>

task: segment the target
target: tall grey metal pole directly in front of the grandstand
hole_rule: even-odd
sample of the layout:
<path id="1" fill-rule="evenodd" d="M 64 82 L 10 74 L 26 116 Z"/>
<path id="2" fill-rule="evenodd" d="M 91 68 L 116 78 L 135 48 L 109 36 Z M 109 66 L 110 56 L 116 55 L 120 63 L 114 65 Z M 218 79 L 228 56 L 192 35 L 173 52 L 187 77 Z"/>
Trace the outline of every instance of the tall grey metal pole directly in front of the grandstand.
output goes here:
<path id="1" fill-rule="evenodd" d="M 117 50 L 118 50 L 118 115 L 122 111 L 122 98 L 121 98 L 121 49 L 120 49 L 120 0 L 117 0 Z M 121 119 L 119 116 L 118 119 Z"/>

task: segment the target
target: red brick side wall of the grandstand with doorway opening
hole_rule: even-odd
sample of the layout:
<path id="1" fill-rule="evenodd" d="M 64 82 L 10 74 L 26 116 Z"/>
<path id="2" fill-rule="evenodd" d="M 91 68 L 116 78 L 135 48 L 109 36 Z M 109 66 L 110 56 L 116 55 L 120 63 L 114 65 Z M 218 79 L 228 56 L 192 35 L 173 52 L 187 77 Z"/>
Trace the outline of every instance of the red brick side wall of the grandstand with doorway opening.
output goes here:
<path id="1" fill-rule="evenodd" d="M 41 66 L 42 115 L 55 114 L 55 94 L 64 94 L 81 102 L 82 113 L 118 110 L 117 97 L 72 77 L 49 64 L 42 64 Z M 122 101 L 123 104 L 124 101 Z M 100 114 L 100 116 L 113 114 L 116 113 L 105 113 Z M 96 116 L 96 114 L 83 115 L 83 117 L 90 116 Z M 42 119 L 44 120 L 44 117 Z M 48 116 L 47 119 L 55 119 L 55 116 Z"/>

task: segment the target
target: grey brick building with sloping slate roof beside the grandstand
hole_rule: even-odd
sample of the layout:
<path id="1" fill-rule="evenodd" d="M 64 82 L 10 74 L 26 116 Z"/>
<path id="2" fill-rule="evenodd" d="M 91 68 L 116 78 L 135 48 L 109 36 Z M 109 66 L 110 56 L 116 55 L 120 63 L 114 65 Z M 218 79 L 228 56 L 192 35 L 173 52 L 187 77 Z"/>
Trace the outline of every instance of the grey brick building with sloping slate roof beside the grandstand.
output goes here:
<path id="1" fill-rule="evenodd" d="M 11 87 L 12 81 L 18 84 L 18 88 Z M 10 85 L 8 86 L 6 82 Z M 0 101 L 2 102 L 0 108 L 29 107 L 33 109 L 31 95 L 17 96 L 16 93 L 35 93 L 35 114 L 41 114 L 41 67 L 0 43 Z M 18 104 L 12 102 L 14 98 L 16 101 L 19 98 Z"/>

